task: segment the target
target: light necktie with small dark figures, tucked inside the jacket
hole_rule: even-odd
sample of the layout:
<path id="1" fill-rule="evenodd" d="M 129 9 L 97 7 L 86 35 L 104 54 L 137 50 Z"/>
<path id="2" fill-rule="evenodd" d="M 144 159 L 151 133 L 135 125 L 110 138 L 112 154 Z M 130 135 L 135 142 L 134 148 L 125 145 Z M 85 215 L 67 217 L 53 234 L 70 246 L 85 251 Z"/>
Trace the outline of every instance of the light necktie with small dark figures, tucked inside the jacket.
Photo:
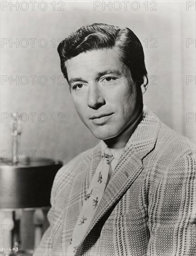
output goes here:
<path id="1" fill-rule="evenodd" d="M 111 154 L 111 150 L 106 148 L 105 151 L 103 151 L 101 161 L 96 168 L 89 189 L 85 195 L 82 209 L 76 222 L 72 239 L 67 250 L 67 255 L 69 256 L 75 255 L 76 249 L 82 242 L 82 239 L 85 236 L 87 229 L 89 228 L 90 222 L 93 219 L 95 211 L 106 188 L 109 168 L 111 167 L 110 163 L 113 159 L 114 156 Z"/>

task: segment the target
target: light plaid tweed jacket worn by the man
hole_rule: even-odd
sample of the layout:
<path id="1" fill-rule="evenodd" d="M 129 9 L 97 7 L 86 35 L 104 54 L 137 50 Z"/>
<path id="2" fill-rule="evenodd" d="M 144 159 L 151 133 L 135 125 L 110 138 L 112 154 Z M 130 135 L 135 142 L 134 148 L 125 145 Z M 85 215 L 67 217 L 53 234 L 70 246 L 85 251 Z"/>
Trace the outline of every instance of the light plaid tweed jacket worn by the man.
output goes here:
<path id="1" fill-rule="evenodd" d="M 145 108 L 76 256 L 195 256 L 194 155 L 187 138 Z M 58 171 L 51 192 L 50 227 L 34 256 L 67 255 L 100 161 L 101 142 Z"/>

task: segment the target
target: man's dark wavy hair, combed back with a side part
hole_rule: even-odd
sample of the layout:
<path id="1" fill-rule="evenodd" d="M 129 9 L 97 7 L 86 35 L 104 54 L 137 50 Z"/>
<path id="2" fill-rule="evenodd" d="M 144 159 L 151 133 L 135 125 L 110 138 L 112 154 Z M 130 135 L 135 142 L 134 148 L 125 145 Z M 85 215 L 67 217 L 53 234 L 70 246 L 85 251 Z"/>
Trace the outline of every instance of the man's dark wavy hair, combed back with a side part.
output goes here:
<path id="1" fill-rule="evenodd" d="M 119 48 L 121 61 L 130 69 L 136 85 L 140 86 L 143 76 L 147 77 L 141 42 L 128 27 L 120 28 L 103 23 L 82 26 L 60 42 L 57 51 L 65 79 L 68 81 L 65 61 L 87 51 L 113 47 Z"/>

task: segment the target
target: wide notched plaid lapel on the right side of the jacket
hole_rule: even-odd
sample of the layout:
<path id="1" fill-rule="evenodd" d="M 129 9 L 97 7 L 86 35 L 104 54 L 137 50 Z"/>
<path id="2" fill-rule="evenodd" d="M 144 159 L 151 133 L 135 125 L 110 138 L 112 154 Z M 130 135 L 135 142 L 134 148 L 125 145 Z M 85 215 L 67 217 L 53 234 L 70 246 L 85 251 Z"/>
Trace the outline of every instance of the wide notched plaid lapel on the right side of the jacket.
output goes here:
<path id="1" fill-rule="evenodd" d="M 124 154 L 114 169 L 109 183 L 101 198 L 101 202 L 95 212 L 95 215 L 89 225 L 86 235 L 84 236 L 75 256 L 79 255 L 80 248 L 90 231 L 95 227 L 96 223 L 111 209 L 120 197 L 131 186 L 140 172 L 143 170 L 143 158 L 151 152 L 157 141 L 158 131 L 160 129 L 160 121 L 151 122 L 149 116 L 152 112 L 148 108 L 144 108 L 143 119 L 131 135 L 126 143 Z M 101 152 L 101 143 L 97 145 L 97 151 Z M 100 160 L 101 160 L 101 156 Z M 94 172 L 95 172 L 94 168 Z"/>

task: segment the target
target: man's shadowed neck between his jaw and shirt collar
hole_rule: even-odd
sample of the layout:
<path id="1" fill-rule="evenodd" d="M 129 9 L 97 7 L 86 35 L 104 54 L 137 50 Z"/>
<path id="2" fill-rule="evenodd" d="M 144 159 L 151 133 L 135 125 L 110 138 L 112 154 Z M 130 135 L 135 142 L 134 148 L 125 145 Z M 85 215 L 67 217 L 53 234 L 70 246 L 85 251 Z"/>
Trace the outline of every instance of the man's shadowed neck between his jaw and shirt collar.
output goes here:
<path id="1" fill-rule="evenodd" d="M 141 118 L 142 118 L 143 110 L 139 112 L 139 115 L 136 116 L 136 118 L 126 126 L 125 129 L 122 130 L 122 132 L 117 135 L 114 138 L 104 140 L 105 143 L 109 148 L 125 148 L 127 141 L 129 140 L 130 136 L 133 134 L 135 128 L 138 126 Z"/>

